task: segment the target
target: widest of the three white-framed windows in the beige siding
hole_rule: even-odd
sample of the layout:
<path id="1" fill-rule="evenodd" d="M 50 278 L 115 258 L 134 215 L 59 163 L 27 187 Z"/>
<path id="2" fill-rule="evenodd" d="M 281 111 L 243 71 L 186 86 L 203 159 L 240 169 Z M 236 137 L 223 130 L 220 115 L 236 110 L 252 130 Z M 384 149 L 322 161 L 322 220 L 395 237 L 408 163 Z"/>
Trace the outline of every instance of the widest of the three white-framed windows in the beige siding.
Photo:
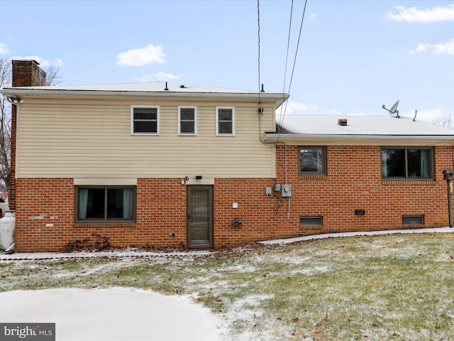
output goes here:
<path id="1" fill-rule="evenodd" d="M 132 105 L 131 134 L 159 134 L 159 107 Z"/>

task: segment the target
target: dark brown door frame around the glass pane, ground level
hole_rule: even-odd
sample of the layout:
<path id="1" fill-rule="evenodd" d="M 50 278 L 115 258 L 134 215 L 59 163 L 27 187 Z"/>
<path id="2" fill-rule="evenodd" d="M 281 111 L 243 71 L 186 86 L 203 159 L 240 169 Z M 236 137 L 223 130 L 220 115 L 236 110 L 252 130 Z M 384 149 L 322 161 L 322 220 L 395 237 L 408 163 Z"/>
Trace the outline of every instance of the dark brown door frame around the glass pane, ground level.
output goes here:
<path id="1" fill-rule="evenodd" d="M 190 210 L 192 208 L 191 191 L 208 190 L 209 193 L 209 243 L 192 244 Z M 214 247 L 214 185 L 187 185 L 186 186 L 186 239 L 188 249 L 212 249 Z"/>

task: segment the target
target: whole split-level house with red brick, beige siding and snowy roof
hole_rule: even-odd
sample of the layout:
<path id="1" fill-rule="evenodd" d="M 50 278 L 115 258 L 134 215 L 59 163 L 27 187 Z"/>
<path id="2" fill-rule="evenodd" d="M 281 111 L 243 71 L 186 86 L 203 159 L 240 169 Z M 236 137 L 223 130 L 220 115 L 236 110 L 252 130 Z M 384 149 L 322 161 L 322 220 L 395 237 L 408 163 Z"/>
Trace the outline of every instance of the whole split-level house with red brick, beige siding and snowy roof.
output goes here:
<path id="1" fill-rule="evenodd" d="M 13 102 L 18 251 L 92 234 L 117 247 L 204 249 L 448 224 L 448 129 L 387 116 L 279 126 L 287 94 L 44 80 L 38 63 L 15 60 L 0 90 Z"/>

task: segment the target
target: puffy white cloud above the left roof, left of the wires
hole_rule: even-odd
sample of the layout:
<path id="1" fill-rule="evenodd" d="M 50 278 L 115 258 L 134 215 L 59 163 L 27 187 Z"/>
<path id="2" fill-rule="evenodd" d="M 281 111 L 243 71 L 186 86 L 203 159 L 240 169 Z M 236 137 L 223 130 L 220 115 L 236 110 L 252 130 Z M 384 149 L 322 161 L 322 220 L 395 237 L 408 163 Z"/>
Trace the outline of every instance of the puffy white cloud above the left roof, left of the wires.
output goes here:
<path id="1" fill-rule="evenodd" d="M 121 66 L 143 66 L 151 63 L 165 63 L 165 53 L 161 45 L 150 44 L 145 48 L 135 48 L 116 56 L 116 64 Z"/>

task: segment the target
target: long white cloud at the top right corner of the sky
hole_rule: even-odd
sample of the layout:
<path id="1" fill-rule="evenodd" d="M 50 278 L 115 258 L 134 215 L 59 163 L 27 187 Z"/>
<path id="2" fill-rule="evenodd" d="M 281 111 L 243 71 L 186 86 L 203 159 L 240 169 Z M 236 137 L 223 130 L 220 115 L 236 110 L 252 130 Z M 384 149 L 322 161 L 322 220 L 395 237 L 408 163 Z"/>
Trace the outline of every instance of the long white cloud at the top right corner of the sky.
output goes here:
<path id="1" fill-rule="evenodd" d="M 419 9 L 418 7 L 396 6 L 397 13 L 388 12 L 385 18 L 391 21 L 404 21 L 406 23 L 433 23 L 435 21 L 454 21 L 454 4 L 432 9 Z"/>

